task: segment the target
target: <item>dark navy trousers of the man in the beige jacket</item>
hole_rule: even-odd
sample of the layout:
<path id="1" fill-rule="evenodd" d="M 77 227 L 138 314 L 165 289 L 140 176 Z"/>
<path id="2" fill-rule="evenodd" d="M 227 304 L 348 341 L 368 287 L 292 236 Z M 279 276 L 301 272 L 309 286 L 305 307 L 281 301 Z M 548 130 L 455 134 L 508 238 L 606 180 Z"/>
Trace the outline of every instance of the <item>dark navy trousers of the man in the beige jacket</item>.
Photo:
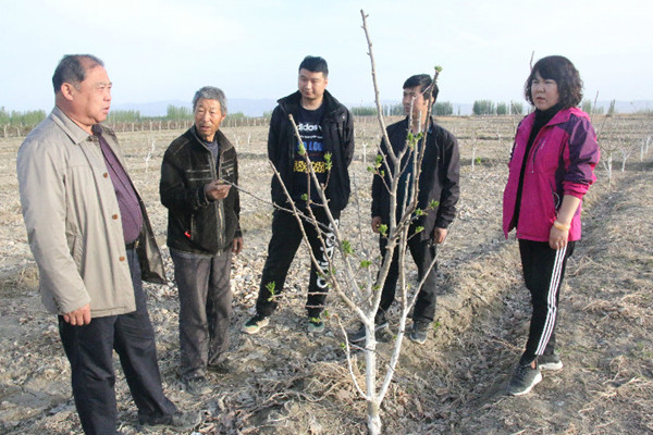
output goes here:
<path id="1" fill-rule="evenodd" d="M 161 386 L 155 331 L 149 320 L 140 268 L 135 250 L 127 250 L 136 311 L 94 318 L 72 326 L 59 316 L 59 333 L 71 363 L 73 396 L 86 434 L 115 434 L 115 373 L 113 349 L 120 357 L 139 420 L 155 420 L 176 411 Z"/>

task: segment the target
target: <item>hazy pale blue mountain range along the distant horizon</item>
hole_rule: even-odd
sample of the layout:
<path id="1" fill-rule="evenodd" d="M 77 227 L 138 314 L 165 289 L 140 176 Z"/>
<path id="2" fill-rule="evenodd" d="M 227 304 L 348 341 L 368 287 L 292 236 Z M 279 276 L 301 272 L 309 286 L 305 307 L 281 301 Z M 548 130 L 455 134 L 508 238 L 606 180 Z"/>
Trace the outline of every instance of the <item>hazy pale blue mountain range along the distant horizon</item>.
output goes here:
<path id="1" fill-rule="evenodd" d="M 383 101 L 384 105 L 398 104 L 398 100 Z M 369 103 L 345 103 L 347 107 L 360 107 L 360 105 L 374 105 L 373 102 Z M 452 103 L 454 107 L 454 114 L 470 115 L 471 103 Z M 155 101 L 145 103 L 126 103 L 116 104 L 113 110 L 137 110 L 141 116 L 165 116 L 168 113 L 168 107 L 187 107 L 190 109 L 190 104 L 187 101 L 182 100 L 169 100 L 169 101 Z M 245 99 L 245 98 L 232 98 L 229 100 L 229 113 L 243 113 L 247 116 L 262 116 L 267 112 L 271 112 L 276 105 L 276 100 L 273 99 Z M 609 108 L 609 101 L 596 101 L 596 105 L 603 108 L 604 112 L 607 112 Z M 525 109 L 528 107 L 526 101 L 523 102 Z M 633 113 L 640 110 L 653 110 L 653 101 L 651 100 L 638 100 L 638 101 L 616 101 L 615 109 L 617 113 Z"/>

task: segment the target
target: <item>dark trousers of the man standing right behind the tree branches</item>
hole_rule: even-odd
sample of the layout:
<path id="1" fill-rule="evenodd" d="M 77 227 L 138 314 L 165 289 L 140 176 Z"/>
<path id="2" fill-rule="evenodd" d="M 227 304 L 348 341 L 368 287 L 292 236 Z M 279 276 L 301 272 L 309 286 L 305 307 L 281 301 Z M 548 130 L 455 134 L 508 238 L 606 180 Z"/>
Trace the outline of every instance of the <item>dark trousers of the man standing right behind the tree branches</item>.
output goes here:
<path id="1" fill-rule="evenodd" d="M 412 234 L 409 231 L 410 234 Z M 387 246 L 387 239 L 385 237 L 379 237 L 379 247 L 381 248 L 381 254 L 385 254 L 385 247 Z M 419 236 L 411 237 L 408 239 L 408 249 L 412 256 L 412 260 L 417 264 L 417 276 L 421 282 L 427 270 L 431 265 L 431 262 L 435 258 L 435 246 L 430 240 L 420 240 Z M 395 249 L 392 258 L 390 270 L 387 271 L 387 277 L 383 284 L 383 293 L 381 294 L 381 302 L 379 303 L 379 311 L 377 312 L 377 323 L 385 321 L 385 312 L 392 306 L 395 299 L 395 291 L 397 288 L 397 279 L 399 277 L 399 251 Z M 435 275 L 438 273 L 438 263 L 433 265 L 427 278 L 424 279 L 423 286 L 417 294 L 417 300 L 412 310 L 412 320 L 422 322 L 433 322 L 435 315 Z"/>

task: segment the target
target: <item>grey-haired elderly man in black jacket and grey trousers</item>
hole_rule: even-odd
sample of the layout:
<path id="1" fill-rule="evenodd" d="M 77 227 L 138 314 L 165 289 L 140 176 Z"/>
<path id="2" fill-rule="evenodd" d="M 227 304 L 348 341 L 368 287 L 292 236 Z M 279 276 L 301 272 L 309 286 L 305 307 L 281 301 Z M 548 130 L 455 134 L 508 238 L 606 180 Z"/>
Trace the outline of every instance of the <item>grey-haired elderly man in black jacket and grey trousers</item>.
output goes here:
<path id="1" fill-rule="evenodd" d="M 173 140 L 161 165 L 168 246 L 180 291 L 181 375 L 192 394 L 207 394 L 206 371 L 229 370 L 232 253 L 243 237 L 236 150 L 220 132 L 222 90 L 204 87 L 193 99 L 195 125 Z"/>

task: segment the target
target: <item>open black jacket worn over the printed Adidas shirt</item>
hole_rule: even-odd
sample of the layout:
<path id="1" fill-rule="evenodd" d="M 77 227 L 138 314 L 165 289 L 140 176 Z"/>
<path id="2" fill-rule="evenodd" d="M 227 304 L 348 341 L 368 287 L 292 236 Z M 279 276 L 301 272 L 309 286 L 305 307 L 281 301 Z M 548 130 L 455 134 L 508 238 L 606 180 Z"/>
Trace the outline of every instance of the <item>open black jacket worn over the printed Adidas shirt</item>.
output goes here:
<path id="1" fill-rule="evenodd" d="M 297 119 L 301 95 L 296 91 L 280 99 L 272 112 L 268 134 L 268 158 L 279 171 L 288 191 L 293 191 L 293 162 L 297 137 L 288 114 Z M 331 210 L 343 210 L 349 200 L 350 184 L 347 167 L 354 157 L 354 119 L 352 113 L 329 91 L 324 91 L 324 117 L 322 138 L 324 152 L 331 152 L 333 166 L 326 185 L 326 198 Z M 272 177 L 272 201 L 287 207 L 287 197 L 276 176 Z"/>

